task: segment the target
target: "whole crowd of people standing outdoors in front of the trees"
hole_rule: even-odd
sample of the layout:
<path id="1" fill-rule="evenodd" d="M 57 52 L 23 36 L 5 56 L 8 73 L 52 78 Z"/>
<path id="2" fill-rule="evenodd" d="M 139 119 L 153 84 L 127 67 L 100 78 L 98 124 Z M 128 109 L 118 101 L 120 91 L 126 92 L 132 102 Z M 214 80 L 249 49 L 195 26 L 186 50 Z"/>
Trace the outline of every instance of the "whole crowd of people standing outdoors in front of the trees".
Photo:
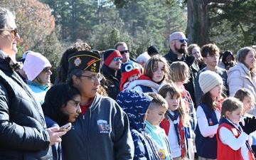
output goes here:
<path id="1" fill-rule="evenodd" d="M 16 61 L 19 39 L 0 7 L 0 159 L 255 159 L 255 49 L 220 57 L 177 31 L 134 60 L 124 42 L 78 42 L 52 84 L 41 53 Z"/>

